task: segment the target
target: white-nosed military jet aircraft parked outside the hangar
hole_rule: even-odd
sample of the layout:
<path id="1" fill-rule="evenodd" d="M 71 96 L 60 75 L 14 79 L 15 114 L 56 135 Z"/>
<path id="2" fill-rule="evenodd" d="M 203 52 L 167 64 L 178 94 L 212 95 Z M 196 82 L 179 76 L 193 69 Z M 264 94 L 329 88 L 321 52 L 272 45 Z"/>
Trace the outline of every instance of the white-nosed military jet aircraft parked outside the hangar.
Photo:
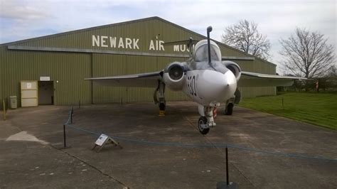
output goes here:
<path id="1" fill-rule="evenodd" d="M 159 104 L 159 112 L 164 113 L 166 107 L 165 87 L 170 90 L 182 90 L 198 103 L 198 129 L 201 134 L 208 134 L 210 127 L 215 126 L 216 108 L 225 102 L 225 114 L 232 114 L 235 102 L 240 101 L 237 87 L 289 86 L 301 77 L 282 77 L 255 72 L 244 72 L 232 61 L 222 61 L 218 45 L 210 41 L 207 28 L 207 40 L 201 40 L 193 46 L 193 39 L 175 43 L 187 43 L 191 57 L 184 63 L 173 62 L 164 70 L 141 73 L 137 75 L 120 75 L 112 77 L 93 77 L 100 85 L 154 87 L 154 102 Z M 245 78 L 240 80 L 244 75 Z"/>

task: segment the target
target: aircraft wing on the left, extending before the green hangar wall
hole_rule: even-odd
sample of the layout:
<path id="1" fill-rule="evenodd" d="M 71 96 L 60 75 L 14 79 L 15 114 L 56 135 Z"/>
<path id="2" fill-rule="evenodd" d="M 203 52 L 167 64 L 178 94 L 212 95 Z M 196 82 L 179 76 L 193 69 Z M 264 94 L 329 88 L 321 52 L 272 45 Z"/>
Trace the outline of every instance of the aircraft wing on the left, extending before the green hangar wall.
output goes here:
<path id="1" fill-rule="evenodd" d="M 163 73 L 148 72 L 134 75 L 119 75 L 112 77 L 92 77 L 85 80 L 92 80 L 99 85 L 123 86 L 123 87 L 157 87 L 158 80 L 162 80 Z"/>

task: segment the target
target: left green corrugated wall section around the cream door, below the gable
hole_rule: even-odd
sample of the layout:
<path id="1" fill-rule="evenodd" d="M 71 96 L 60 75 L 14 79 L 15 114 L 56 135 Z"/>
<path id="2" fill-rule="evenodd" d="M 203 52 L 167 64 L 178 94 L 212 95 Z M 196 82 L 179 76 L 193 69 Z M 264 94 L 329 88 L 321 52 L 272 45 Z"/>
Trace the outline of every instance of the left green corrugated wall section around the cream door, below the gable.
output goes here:
<path id="1" fill-rule="evenodd" d="M 3 97 L 16 95 L 20 106 L 20 81 L 39 80 L 50 76 L 54 82 L 54 103 L 74 104 L 79 100 L 90 103 L 90 54 L 53 53 L 5 50 L 2 53 L 1 93 Z M 81 78 L 81 79 L 79 79 Z M 58 82 L 57 82 L 58 81 Z"/>

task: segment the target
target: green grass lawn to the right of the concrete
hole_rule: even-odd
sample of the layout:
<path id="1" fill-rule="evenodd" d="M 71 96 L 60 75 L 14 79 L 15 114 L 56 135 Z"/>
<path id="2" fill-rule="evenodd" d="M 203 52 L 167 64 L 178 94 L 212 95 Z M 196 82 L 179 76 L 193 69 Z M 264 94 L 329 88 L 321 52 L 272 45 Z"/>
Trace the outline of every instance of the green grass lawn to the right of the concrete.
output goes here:
<path id="1" fill-rule="evenodd" d="M 336 92 L 287 92 L 277 96 L 242 99 L 239 105 L 330 129 L 337 129 Z"/>

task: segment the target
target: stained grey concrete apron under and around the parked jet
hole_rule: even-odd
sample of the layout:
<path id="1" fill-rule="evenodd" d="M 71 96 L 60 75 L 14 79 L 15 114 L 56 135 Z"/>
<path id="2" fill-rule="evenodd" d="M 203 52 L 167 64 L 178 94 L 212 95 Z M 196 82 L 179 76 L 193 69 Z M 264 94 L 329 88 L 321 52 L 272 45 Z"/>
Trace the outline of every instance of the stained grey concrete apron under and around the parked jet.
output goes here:
<path id="1" fill-rule="evenodd" d="M 224 148 L 182 148 L 119 141 L 92 151 L 97 136 L 67 128 L 69 107 L 9 111 L 0 121 L 0 188 L 215 188 L 225 180 Z M 206 136 L 199 134 L 192 102 L 171 102 L 158 117 L 153 104 L 102 104 L 75 108 L 74 124 L 128 139 L 182 144 L 228 143 L 264 151 L 337 157 L 336 131 L 235 107 Z M 336 161 L 289 158 L 229 149 L 230 181 L 240 188 L 333 188 Z M 318 181 L 319 180 L 319 181 Z"/>

